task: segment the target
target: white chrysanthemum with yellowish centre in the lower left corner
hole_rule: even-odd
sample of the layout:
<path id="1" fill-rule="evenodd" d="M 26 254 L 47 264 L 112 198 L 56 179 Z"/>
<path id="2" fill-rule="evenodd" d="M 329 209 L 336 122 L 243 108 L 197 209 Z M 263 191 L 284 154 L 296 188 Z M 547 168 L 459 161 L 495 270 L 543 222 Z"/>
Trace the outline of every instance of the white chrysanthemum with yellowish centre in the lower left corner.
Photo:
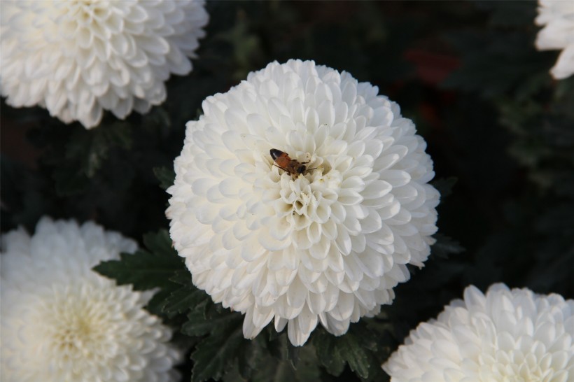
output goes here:
<path id="1" fill-rule="evenodd" d="M 143 309 L 151 292 L 91 270 L 137 245 L 92 222 L 43 218 L 2 237 L 2 382 L 176 381 L 171 330 Z"/>

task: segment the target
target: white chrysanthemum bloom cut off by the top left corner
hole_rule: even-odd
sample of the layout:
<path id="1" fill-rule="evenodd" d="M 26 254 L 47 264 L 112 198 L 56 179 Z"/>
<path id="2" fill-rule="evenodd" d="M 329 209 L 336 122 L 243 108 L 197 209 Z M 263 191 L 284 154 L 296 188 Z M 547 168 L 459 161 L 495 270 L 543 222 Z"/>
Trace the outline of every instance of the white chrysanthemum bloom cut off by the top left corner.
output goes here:
<path id="1" fill-rule="evenodd" d="M 103 110 L 125 118 L 187 74 L 209 16 L 204 0 L 2 0 L 1 93 L 86 128 Z"/>

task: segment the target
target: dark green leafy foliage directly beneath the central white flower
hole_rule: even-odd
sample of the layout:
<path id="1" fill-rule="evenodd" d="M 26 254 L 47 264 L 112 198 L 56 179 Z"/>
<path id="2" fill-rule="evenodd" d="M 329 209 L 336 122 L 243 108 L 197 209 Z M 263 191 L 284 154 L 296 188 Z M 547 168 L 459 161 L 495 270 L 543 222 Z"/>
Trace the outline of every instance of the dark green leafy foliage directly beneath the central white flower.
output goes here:
<path id="1" fill-rule="evenodd" d="M 192 381 L 221 379 L 224 375 L 225 379 L 239 380 L 309 381 L 321 376 L 319 365 L 334 376 L 342 374 L 348 365 L 365 381 L 381 377 L 378 363 L 384 341 L 379 341 L 380 334 L 367 327 L 366 320 L 351 325 L 342 337 L 318 329 L 301 348 L 292 346 L 285 333 L 274 330 L 249 341 L 243 337 L 244 317 L 240 313 L 214 304 L 193 286 L 165 230 L 146 234 L 144 246 L 146 249 L 134 254 L 122 254 L 120 260 L 102 262 L 94 270 L 118 284 L 131 283 L 137 290 L 160 289 L 148 310 L 168 323 L 179 323 L 181 334 L 197 337 L 191 355 Z"/>

